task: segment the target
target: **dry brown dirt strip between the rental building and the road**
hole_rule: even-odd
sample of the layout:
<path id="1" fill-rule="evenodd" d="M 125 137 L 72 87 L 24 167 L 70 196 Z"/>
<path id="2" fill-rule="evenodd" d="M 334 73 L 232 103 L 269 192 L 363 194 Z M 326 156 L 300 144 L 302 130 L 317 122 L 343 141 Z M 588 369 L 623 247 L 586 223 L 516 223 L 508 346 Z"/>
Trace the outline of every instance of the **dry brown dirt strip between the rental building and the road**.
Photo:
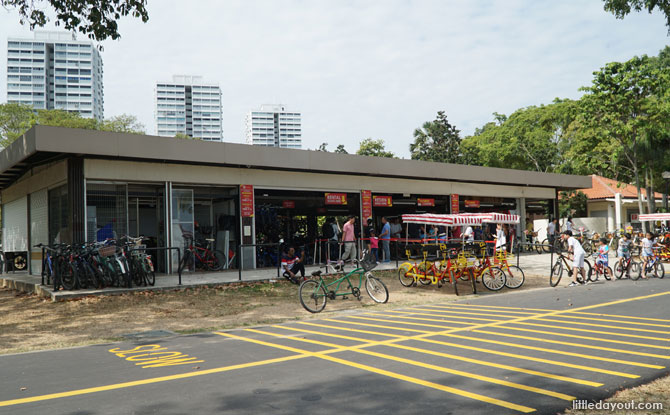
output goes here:
<path id="1" fill-rule="evenodd" d="M 338 298 L 328 301 L 326 309 L 316 316 L 302 308 L 298 287 L 286 281 L 90 296 L 57 303 L 0 288 L 0 354 L 104 343 L 149 330 L 196 333 L 323 317 L 361 307 L 385 309 L 454 301 L 471 293 L 465 282 L 459 283 L 461 297 L 456 297 L 450 286 L 406 288 L 395 272 L 376 274 L 388 286 L 387 304 L 374 303 L 363 288 L 360 303 L 351 296 Z M 521 289 L 547 285 L 546 277 L 526 276 Z"/>

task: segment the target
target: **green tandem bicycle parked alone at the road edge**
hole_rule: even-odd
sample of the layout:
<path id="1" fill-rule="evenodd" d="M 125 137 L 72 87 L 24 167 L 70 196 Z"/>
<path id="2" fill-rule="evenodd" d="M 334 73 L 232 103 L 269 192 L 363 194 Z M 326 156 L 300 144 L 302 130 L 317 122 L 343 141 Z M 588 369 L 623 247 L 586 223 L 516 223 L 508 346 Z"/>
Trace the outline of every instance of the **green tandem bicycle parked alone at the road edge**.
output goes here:
<path id="1" fill-rule="evenodd" d="M 367 259 L 367 258 L 366 258 Z M 347 295 L 353 295 L 357 300 L 361 300 L 361 287 L 365 280 L 365 291 L 370 298 L 377 303 L 386 303 L 389 299 L 389 291 L 386 285 L 370 272 L 376 262 L 362 260 L 358 267 L 333 282 L 327 283 L 321 276 L 321 271 L 312 273 L 313 279 L 305 280 L 300 284 L 299 295 L 300 304 L 310 313 L 318 313 L 326 308 L 328 299 L 334 300 L 337 297 L 346 299 Z M 351 283 L 350 277 L 358 276 L 358 286 Z M 318 278 L 318 279 L 317 279 Z M 346 288 L 348 291 L 341 292 L 340 288 Z"/>

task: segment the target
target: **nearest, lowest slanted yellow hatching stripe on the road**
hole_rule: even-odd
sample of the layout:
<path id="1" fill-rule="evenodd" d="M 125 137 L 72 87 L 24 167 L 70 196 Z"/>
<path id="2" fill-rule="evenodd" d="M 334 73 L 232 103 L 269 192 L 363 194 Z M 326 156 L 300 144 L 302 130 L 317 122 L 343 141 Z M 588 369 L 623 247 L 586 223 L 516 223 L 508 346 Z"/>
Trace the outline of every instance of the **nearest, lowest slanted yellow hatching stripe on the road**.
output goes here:
<path id="1" fill-rule="evenodd" d="M 258 332 L 258 330 L 253 330 L 253 329 L 247 329 L 247 331 Z M 393 378 L 393 379 L 404 380 L 404 381 L 409 382 L 409 383 L 414 383 L 414 384 L 417 384 L 417 385 L 426 386 L 426 387 L 441 390 L 441 391 L 444 391 L 444 392 L 449 392 L 449 393 L 452 393 L 454 395 L 459 395 L 459 396 L 474 399 L 474 400 L 477 400 L 477 401 L 486 402 L 486 403 L 490 403 L 490 404 L 493 404 L 493 405 L 498 405 L 498 406 L 501 406 L 503 408 L 513 409 L 513 410 L 516 410 L 516 411 L 519 411 L 519 412 L 529 413 L 529 412 L 534 412 L 535 411 L 535 409 L 527 407 L 527 406 L 517 405 L 517 404 L 512 403 L 512 402 L 507 402 L 507 401 L 503 401 L 503 400 L 500 400 L 500 399 L 491 398 L 489 396 L 480 395 L 478 393 L 468 392 L 468 391 L 465 391 L 465 390 L 462 390 L 462 389 L 457 389 L 457 388 L 452 388 L 450 386 L 440 385 L 438 383 L 425 381 L 425 380 L 422 380 L 422 379 L 402 375 L 400 373 L 395 373 L 395 372 L 391 372 L 391 371 L 384 370 L 384 369 L 379 369 L 379 368 L 376 368 L 376 367 L 373 367 L 373 366 L 351 362 L 349 360 L 340 359 L 340 358 L 337 358 L 337 357 L 334 357 L 334 356 L 330 356 L 328 354 L 328 353 L 333 353 L 334 350 L 339 350 L 341 348 L 330 349 L 330 350 L 326 350 L 326 351 L 323 351 L 323 352 L 310 352 L 308 350 L 297 349 L 297 348 L 290 347 L 290 346 L 283 346 L 283 345 L 279 345 L 279 344 L 264 342 L 264 341 L 261 341 L 261 340 L 251 339 L 251 338 L 248 338 L 248 337 L 240 337 L 240 336 L 236 336 L 236 335 L 233 335 L 233 334 L 230 334 L 230 333 L 221 333 L 221 332 L 215 332 L 215 333 L 218 334 L 218 335 L 221 335 L 221 336 L 234 338 L 234 339 L 237 339 L 237 340 L 240 340 L 240 341 L 262 344 L 262 345 L 268 346 L 268 347 L 275 347 L 275 348 L 278 348 L 278 349 L 289 350 L 289 351 L 299 351 L 299 353 L 305 354 L 307 356 L 317 357 L 317 358 L 328 360 L 328 361 L 331 361 L 331 362 L 334 362 L 334 363 L 339 363 L 339 364 L 342 364 L 342 365 L 345 365 L 345 366 L 355 367 L 357 369 L 365 370 L 365 371 L 372 372 L 372 373 L 377 373 L 379 375 L 384 375 L 384 376 L 387 376 L 387 377 L 390 377 L 390 378 Z M 288 337 L 288 339 L 291 339 L 291 338 Z"/>

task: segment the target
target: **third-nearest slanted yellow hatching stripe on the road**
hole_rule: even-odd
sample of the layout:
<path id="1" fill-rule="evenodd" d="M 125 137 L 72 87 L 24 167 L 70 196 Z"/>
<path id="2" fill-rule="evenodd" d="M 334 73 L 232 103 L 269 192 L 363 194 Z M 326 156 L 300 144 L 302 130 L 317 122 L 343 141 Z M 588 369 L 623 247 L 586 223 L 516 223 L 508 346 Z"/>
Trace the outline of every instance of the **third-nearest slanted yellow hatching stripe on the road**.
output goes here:
<path id="1" fill-rule="evenodd" d="M 344 336 L 344 335 L 341 335 L 341 334 L 325 333 L 325 332 L 315 331 L 315 330 L 299 329 L 297 327 L 286 327 L 286 326 L 278 326 L 278 325 L 273 326 L 273 327 L 278 328 L 278 329 L 282 329 L 282 330 L 291 330 L 291 331 L 298 331 L 298 332 L 302 332 L 302 333 L 311 333 L 311 334 L 316 334 L 316 335 L 319 335 L 319 336 L 335 337 L 335 338 L 338 338 L 338 339 L 346 339 L 346 340 L 356 339 L 355 337 Z M 364 331 L 364 330 L 356 330 L 356 331 Z M 357 340 L 358 341 L 365 341 L 367 343 L 374 343 L 373 341 L 370 341 L 370 340 L 361 340 L 361 339 L 357 339 Z M 540 377 L 544 377 L 544 378 L 560 380 L 560 381 L 570 382 L 570 383 L 576 383 L 576 384 L 580 384 L 580 385 L 587 385 L 587 386 L 593 386 L 593 387 L 599 387 L 599 386 L 603 385 L 602 383 L 598 383 L 598 382 L 591 382 L 591 381 L 588 381 L 588 380 L 576 379 L 576 378 L 571 378 L 571 377 L 568 377 L 568 376 L 554 375 L 552 373 L 540 372 L 540 371 L 537 371 L 537 370 L 524 369 L 524 368 L 510 366 L 510 365 L 503 365 L 503 364 L 500 364 L 500 363 L 489 362 L 489 361 L 486 361 L 486 360 L 471 359 L 469 357 L 457 356 L 457 355 L 442 353 L 442 352 L 436 352 L 436 351 L 430 350 L 430 349 L 420 349 L 418 347 L 412 347 L 412 346 L 400 345 L 400 344 L 393 344 L 393 343 L 381 344 L 380 346 L 393 347 L 393 348 L 400 349 L 400 350 L 410 350 L 410 351 L 417 352 L 417 353 L 429 354 L 429 355 L 433 355 L 433 356 L 444 357 L 444 358 L 447 358 L 447 359 L 459 360 L 459 361 L 468 362 L 468 363 L 474 363 L 474 364 L 481 365 L 481 366 L 495 367 L 495 368 L 498 368 L 498 369 L 509 370 L 511 372 L 526 373 L 528 375 L 540 376 Z"/>

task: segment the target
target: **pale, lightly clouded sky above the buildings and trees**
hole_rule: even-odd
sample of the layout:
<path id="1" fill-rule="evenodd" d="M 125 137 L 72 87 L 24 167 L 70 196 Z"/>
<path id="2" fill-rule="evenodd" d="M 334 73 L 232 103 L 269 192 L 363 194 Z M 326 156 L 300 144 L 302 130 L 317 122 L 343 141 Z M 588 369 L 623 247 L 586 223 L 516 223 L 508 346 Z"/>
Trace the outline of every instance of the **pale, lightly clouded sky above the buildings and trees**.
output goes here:
<path id="1" fill-rule="evenodd" d="M 494 112 L 579 98 L 605 63 L 670 44 L 660 13 L 617 20 L 601 0 L 151 0 L 147 9 L 147 23 L 123 18 L 121 39 L 101 43 L 105 117 L 133 114 L 152 134 L 156 82 L 201 75 L 221 86 L 224 141 L 245 141 L 249 110 L 282 103 L 302 113 L 304 149 L 355 152 L 371 137 L 400 157 L 437 111 L 469 135 Z M 32 33 L 0 8 L 0 102 L 8 36 Z"/>

